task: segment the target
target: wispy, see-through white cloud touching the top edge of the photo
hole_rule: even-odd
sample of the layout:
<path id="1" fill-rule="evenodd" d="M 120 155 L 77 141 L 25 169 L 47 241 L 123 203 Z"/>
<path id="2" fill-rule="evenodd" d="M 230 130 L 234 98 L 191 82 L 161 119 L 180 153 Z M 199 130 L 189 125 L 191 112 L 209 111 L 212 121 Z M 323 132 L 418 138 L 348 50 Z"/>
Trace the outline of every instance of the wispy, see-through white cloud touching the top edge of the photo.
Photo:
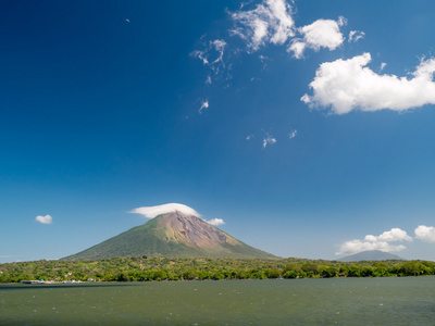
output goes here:
<path id="1" fill-rule="evenodd" d="M 234 35 L 246 40 L 252 51 L 265 42 L 283 45 L 295 36 L 293 10 L 285 0 L 264 0 L 250 11 L 232 14 L 236 23 Z"/>

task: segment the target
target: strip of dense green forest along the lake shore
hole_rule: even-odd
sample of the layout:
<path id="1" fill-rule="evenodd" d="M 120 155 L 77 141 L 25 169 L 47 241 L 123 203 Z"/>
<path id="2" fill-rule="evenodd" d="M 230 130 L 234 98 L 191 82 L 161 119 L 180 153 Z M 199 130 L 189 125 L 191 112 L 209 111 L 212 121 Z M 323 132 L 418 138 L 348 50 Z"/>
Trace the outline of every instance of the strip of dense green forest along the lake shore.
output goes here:
<path id="1" fill-rule="evenodd" d="M 22 280 L 144 281 L 434 275 L 435 262 L 113 258 L 0 264 L 0 283 Z"/>

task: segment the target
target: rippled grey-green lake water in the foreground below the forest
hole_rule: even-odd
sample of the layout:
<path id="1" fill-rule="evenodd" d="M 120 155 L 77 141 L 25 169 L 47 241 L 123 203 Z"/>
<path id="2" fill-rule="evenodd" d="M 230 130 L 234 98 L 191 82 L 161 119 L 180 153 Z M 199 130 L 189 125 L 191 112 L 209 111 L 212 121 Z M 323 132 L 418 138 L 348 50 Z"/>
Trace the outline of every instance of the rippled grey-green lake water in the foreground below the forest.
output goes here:
<path id="1" fill-rule="evenodd" d="M 435 277 L 1 285 L 0 324 L 435 325 Z"/>

